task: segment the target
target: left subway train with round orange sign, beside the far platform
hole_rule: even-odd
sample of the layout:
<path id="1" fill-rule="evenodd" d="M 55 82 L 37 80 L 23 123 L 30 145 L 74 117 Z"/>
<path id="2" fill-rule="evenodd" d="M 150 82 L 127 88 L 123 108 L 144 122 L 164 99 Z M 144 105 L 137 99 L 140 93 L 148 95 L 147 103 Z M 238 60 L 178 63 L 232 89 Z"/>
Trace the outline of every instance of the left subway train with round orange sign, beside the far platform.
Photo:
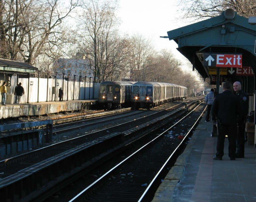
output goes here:
<path id="1" fill-rule="evenodd" d="M 130 81 L 104 81 L 100 84 L 99 104 L 105 109 L 120 109 L 131 105 L 132 85 Z"/>

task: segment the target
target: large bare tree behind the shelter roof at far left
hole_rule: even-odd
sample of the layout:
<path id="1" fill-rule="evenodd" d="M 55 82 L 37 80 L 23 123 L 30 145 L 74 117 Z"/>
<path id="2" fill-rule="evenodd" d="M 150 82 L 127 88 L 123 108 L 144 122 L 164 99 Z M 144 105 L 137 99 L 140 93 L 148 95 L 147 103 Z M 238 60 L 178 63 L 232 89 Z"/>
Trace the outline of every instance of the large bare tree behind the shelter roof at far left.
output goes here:
<path id="1" fill-rule="evenodd" d="M 33 65 L 44 54 L 47 43 L 61 40 L 59 25 L 77 6 L 72 0 L 60 7 L 60 0 L 0 0 L 0 56 Z M 60 4 L 60 5 L 59 5 Z"/>

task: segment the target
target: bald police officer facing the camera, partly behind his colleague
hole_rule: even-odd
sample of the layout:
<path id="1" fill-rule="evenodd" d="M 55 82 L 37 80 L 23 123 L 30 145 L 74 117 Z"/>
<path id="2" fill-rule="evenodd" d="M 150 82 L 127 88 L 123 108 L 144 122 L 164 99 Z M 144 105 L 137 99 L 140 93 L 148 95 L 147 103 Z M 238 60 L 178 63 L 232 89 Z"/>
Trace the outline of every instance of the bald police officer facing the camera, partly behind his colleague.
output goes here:
<path id="1" fill-rule="evenodd" d="M 242 115 L 238 117 L 238 127 L 237 127 L 237 158 L 244 158 L 244 142 L 245 142 L 245 124 L 247 115 L 249 112 L 249 97 L 248 95 L 241 89 L 241 83 L 236 81 L 233 84 L 233 88 L 237 93 L 240 103 L 241 103 L 241 110 Z"/>

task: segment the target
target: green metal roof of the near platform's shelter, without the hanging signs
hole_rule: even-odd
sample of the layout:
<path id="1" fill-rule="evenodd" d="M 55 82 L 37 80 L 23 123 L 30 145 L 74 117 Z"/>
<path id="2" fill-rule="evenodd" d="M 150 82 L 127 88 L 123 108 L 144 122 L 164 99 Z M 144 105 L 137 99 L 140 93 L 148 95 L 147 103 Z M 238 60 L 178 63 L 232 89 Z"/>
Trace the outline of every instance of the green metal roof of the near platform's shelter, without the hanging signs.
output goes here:
<path id="1" fill-rule="evenodd" d="M 178 51 L 204 78 L 212 79 L 209 67 L 203 65 L 204 53 L 209 52 L 240 53 L 243 55 L 243 66 L 250 66 L 256 72 L 256 26 L 248 24 L 248 18 L 230 10 L 220 16 L 168 31 L 168 37 L 165 37 L 178 44 Z M 232 75 L 229 77 L 232 78 Z"/>

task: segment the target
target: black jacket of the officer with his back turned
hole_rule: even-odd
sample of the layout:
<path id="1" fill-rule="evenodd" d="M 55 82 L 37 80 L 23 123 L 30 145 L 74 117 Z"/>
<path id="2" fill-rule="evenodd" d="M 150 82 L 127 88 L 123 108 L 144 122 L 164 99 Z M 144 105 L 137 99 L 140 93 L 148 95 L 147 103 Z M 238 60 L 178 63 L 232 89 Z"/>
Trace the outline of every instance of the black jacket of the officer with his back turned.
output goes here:
<path id="1" fill-rule="evenodd" d="M 212 120 L 216 118 L 221 124 L 237 124 L 237 116 L 241 116 L 241 104 L 237 95 L 225 90 L 217 95 L 212 104 Z"/>

